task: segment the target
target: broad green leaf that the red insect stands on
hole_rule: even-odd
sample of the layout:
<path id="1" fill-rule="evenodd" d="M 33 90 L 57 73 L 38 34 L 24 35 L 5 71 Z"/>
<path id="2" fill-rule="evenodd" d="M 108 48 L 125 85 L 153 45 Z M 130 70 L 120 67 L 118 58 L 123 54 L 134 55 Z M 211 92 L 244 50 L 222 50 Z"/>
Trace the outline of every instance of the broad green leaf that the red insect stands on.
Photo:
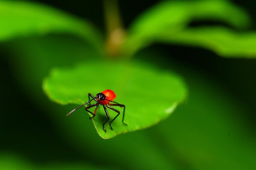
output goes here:
<path id="1" fill-rule="evenodd" d="M 186 97 L 186 87 L 177 75 L 140 62 L 103 60 L 90 61 L 72 69 L 55 68 L 44 80 L 43 88 L 53 101 L 77 105 L 88 101 L 88 93 L 96 95 L 105 89 L 115 91 L 115 101 L 126 106 L 125 123 L 128 126 L 122 124 L 122 108 L 116 108 L 121 115 L 113 122 L 113 131 L 108 123 L 105 125 L 105 133 L 102 123 L 106 115 L 99 107 L 93 124 L 104 139 L 157 124 Z M 114 111 L 109 111 L 109 114 L 111 119 L 116 116 Z"/>

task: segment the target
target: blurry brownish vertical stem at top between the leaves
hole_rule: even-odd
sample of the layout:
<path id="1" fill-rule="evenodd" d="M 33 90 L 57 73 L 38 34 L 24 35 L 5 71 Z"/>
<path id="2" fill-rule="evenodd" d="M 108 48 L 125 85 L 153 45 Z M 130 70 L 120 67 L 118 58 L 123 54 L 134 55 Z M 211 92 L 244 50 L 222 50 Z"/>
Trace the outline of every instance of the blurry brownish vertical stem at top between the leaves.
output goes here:
<path id="1" fill-rule="evenodd" d="M 110 57 L 118 57 L 125 38 L 117 0 L 103 0 L 107 29 L 106 52 Z"/>

